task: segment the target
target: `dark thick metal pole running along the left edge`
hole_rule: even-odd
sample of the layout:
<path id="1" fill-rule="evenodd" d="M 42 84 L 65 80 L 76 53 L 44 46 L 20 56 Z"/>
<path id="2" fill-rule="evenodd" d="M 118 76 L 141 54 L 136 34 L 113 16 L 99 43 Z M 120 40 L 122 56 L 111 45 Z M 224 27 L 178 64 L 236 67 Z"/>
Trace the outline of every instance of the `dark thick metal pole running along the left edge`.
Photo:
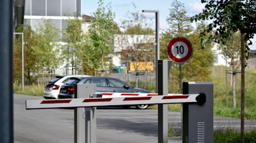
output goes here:
<path id="1" fill-rule="evenodd" d="M 0 142 L 13 142 L 13 1 L 0 1 Z"/>

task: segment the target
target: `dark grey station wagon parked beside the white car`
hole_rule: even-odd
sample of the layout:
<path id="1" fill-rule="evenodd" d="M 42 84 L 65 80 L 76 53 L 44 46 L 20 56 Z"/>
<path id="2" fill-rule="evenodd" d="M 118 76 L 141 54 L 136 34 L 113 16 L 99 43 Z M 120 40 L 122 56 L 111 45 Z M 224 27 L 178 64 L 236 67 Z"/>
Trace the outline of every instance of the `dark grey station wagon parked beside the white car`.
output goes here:
<path id="1" fill-rule="evenodd" d="M 146 89 L 131 87 L 122 80 L 113 77 L 76 77 L 70 78 L 61 86 L 58 98 L 74 98 L 75 84 L 96 84 L 97 93 L 150 93 Z M 124 108 L 129 107 L 129 105 L 124 105 Z M 136 105 L 138 109 L 147 109 L 147 107 L 148 105 Z"/>

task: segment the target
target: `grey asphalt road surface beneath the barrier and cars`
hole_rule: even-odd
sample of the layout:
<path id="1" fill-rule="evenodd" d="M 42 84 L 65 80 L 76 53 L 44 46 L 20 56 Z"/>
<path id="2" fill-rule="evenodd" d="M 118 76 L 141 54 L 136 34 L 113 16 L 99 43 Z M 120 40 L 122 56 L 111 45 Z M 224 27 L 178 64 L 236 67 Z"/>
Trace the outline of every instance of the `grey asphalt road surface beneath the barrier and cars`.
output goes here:
<path id="1" fill-rule="evenodd" d="M 26 100 L 44 99 L 28 95 L 13 95 L 15 143 L 70 143 L 74 142 L 73 109 L 26 110 Z M 168 123 L 180 130 L 180 112 L 168 112 Z M 256 128 L 255 121 L 246 120 L 245 128 Z M 214 117 L 214 128 L 239 128 L 240 120 Z M 97 109 L 97 143 L 157 142 L 157 110 Z M 179 132 L 177 132 L 179 133 Z M 181 139 L 169 138 L 179 143 Z"/>

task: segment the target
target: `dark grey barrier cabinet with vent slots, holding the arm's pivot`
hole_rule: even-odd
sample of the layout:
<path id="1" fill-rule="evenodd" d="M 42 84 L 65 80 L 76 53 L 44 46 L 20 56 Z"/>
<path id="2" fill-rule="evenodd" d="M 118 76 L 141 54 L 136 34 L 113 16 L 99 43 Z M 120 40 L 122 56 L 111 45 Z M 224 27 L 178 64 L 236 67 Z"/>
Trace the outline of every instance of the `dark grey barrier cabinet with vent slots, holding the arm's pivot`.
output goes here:
<path id="1" fill-rule="evenodd" d="M 183 142 L 213 142 L 212 82 L 183 82 L 183 94 L 204 93 L 205 103 L 182 104 Z M 204 97 L 200 100 L 204 100 Z M 204 102 L 204 101 L 203 101 Z"/>

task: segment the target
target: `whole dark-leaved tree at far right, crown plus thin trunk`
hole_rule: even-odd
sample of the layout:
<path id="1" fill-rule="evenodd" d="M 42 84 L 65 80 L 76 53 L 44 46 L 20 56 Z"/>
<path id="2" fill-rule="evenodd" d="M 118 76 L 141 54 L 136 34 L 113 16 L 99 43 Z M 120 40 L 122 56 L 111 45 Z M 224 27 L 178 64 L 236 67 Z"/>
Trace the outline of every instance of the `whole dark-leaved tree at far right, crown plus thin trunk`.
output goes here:
<path id="1" fill-rule="evenodd" d="M 245 42 L 250 41 L 256 33 L 256 1 L 250 0 L 202 0 L 205 8 L 202 13 L 195 15 L 191 21 L 212 20 L 207 29 L 200 34 L 201 47 L 205 48 L 205 43 L 214 41 L 225 44 L 232 34 L 241 30 L 241 142 L 244 142 L 244 68 L 245 55 L 249 50 Z M 212 31 L 214 29 L 214 31 Z M 202 36 L 205 33 L 212 33 L 208 38 Z M 246 33 L 246 34 L 245 34 Z M 250 41 L 250 44 L 252 41 Z"/>

